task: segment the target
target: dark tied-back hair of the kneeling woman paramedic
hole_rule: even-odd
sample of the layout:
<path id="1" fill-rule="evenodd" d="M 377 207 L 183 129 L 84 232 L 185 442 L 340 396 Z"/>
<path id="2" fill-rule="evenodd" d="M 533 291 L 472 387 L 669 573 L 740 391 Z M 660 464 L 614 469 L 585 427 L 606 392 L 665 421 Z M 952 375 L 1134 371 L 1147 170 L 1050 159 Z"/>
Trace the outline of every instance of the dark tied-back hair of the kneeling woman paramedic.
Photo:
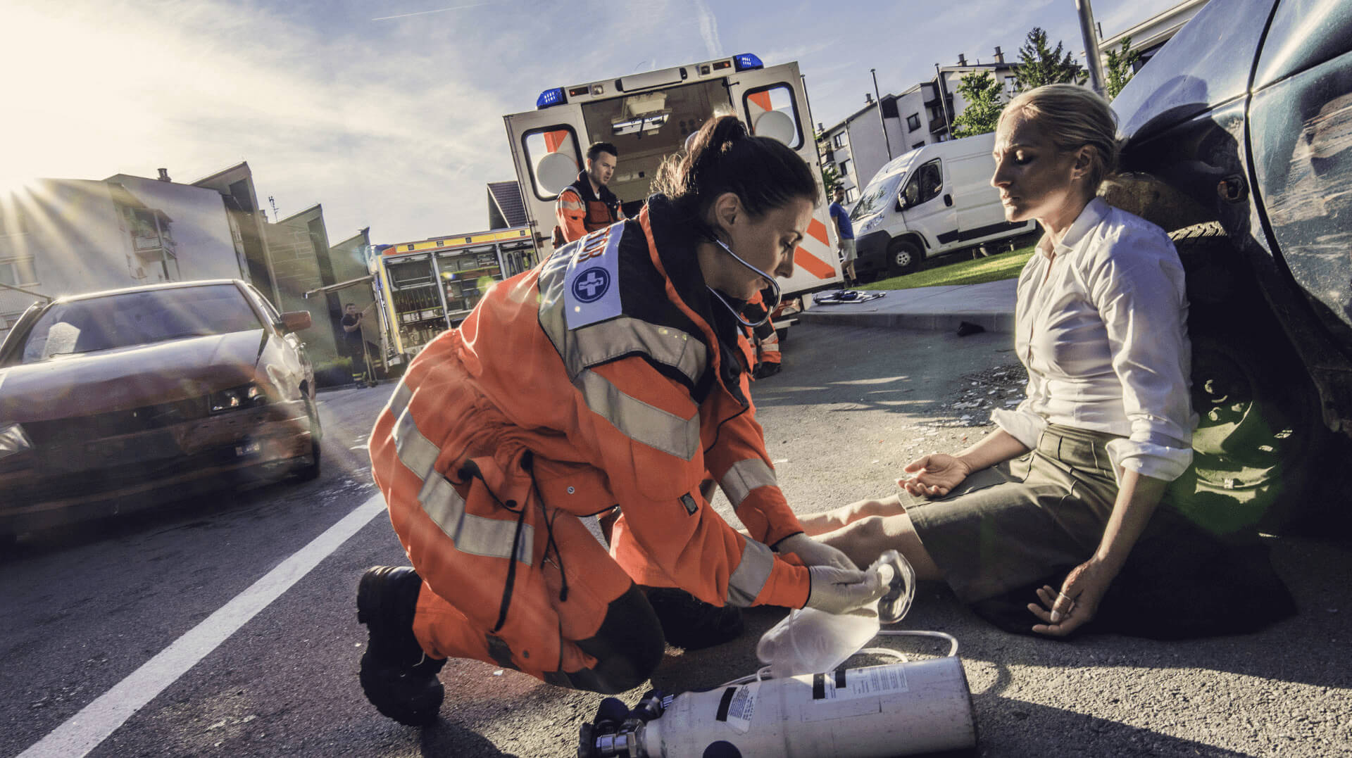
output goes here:
<path id="1" fill-rule="evenodd" d="M 811 169 L 777 139 L 752 136 L 737 116 L 706 123 L 684 154 L 668 155 L 653 180 L 677 209 L 702 222 L 725 192 L 735 193 L 753 218 L 803 197 L 817 205 L 821 195 Z"/>

